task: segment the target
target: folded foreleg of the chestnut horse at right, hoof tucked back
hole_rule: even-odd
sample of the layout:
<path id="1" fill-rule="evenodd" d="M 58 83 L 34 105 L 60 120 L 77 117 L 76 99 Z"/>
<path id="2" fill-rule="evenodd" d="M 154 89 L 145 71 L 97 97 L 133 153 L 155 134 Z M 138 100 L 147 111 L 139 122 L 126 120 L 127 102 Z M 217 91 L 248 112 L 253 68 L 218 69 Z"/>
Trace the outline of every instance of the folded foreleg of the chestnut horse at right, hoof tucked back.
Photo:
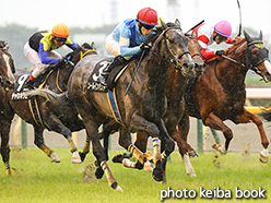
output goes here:
<path id="1" fill-rule="evenodd" d="M 203 124 L 223 132 L 226 141 L 225 141 L 225 151 L 221 151 L 221 153 L 225 154 L 233 139 L 233 131 L 217 116 L 215 116 L 212 112 L 209 115 L 208 118 L 202 119 L 202 121 L 203 121 Z"/>

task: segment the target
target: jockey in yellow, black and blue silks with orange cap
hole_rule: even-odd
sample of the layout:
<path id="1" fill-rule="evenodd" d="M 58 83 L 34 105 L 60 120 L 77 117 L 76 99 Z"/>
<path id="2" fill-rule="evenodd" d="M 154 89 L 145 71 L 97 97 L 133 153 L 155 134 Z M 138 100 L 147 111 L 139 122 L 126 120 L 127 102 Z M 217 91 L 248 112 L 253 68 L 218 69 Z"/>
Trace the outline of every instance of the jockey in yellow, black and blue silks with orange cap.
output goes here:
<path id="1" fill-rule="evenodd" d="M 35 79 L 50 64 L 63 60 L 55 49 L 63 45 L 73 50 L 78 47 L 69 38 L 69 27 L 60 23 L 55 25 L 52 31 L 40 31 L 31 36 L 24 46 L 24 55 L 35 69 L 26 81 L 27 86 L 33 87 Z"/>

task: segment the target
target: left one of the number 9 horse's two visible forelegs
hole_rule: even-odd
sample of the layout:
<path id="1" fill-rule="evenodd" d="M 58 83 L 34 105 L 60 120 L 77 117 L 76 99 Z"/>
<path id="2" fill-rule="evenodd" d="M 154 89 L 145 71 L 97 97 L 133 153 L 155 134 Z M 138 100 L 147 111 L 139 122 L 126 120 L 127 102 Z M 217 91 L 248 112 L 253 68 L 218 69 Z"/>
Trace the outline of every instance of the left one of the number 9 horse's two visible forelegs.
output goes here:
<path id="1" fill-rule="evenodd" d="M 58 155 L 50 150 L 44 142 L 44 128 L 34 126 L 35 140 L 34 143 L 37 147 L 39 147 L 48 157 L 50 157 L 51 163 L 60 163 L 60 158 Z"/>

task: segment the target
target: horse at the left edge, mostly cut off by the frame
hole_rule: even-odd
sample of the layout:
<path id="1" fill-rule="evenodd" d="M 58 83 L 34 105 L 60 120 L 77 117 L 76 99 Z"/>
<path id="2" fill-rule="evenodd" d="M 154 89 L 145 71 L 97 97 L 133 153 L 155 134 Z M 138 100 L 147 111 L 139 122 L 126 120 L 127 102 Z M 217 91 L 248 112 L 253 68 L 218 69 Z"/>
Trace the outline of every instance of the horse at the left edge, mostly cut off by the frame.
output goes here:
<path id="1" fill-rule="evenodd" d="M 9 53 L 9 46 L 0 41 L 0 136 L 1 136 L 1 156 L 5 166 L 5 174 L 11 175 L 10 170 L 10 147 L 9 133 L 14 111 L 9 105 L 8 92 L 13 87 L 15 79 L 15 67 L 12 56 Z"/>

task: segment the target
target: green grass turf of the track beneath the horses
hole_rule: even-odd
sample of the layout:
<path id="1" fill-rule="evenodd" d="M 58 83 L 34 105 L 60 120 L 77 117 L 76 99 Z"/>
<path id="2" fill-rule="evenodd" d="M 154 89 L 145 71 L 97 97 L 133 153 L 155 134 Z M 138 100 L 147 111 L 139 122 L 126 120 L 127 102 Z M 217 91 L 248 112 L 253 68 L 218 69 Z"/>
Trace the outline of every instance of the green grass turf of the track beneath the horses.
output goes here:
<path id="1" fill-rule="evenodd" d="M 220 187 L 231 190 L 235 187 L 243 190 L 255 190 L 262 187 L 267 190 L 266 200 L 233 199 L 168 199 L 169 202 L 271 202 L 270 164 L 261 164 L 258 154 L 241 155 L 229 153 L 225 156 L 215 153 L 204 153 L 192 158 L 196 178 L 186 175 L 185 167 L 177 152 L 173 153 L 167 165 L 167 183 L 155 182 L 150 172 L 128 169 L 108 162 L 123 193 L 114 191 L 104 177 L 101 180 L 85 181 L 85 167 L 94 162 L 90 154 L 85 163 L 71 164 L 71 153 L 68 148 L 55 148 L 61 158 L 60 164 L 52 164 L 49 158 L 37 148 L 17 150 L 11 152 L 12 176 L 7 177 L 4 166 L 0 167 L 0 202 L 7 203 L 154 203 L 160 202 L 161 190 L 170 187 L 172 190 L 196 190 L 200 187 L 213 190 Z M 122 151 L 111 151 L 110 157 Z M 1 165 L 0 165 L 1 166 Z"/>

